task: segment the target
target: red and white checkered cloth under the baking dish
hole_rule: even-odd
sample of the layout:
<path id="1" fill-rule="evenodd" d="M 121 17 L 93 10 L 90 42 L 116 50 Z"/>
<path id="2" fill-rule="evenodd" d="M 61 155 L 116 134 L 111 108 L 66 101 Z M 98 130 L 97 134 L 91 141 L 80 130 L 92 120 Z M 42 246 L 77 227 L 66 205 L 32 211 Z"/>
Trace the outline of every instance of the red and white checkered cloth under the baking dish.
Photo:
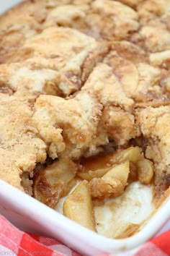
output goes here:
<path id="1" fill-rule="evenodd" d="M 19 231 L 0 215 L 0 255 L 81 256 L 55 239 Z M 170 230 L 143 244 L 134 256 L 170 255 Z M 97 255 L 94 255 L 97 256 Z M 99 255 L 109 256 L 109 255 Z"/>

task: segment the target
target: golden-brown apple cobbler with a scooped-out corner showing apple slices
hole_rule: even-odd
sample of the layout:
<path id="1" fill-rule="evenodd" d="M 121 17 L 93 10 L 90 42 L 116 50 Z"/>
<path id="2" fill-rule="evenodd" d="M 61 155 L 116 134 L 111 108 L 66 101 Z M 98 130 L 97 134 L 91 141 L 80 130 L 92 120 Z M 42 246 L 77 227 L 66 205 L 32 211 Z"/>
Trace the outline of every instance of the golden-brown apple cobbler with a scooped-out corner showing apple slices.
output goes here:
<path id="1" fill-rule="evenodd" d="M 96 231 L 170 186 L 170 1 L 27 0 L 0 17 L 0 178 Z M 79 213 L 81 212 L 81 216 Z"/>

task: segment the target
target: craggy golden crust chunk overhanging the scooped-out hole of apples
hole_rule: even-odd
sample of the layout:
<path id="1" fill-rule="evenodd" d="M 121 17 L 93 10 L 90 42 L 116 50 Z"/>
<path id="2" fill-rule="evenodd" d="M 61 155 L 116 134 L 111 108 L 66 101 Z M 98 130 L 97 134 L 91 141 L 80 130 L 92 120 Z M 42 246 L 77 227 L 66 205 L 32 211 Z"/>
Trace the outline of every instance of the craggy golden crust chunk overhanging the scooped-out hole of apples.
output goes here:
<path id="1" fill-rule="evenodd" d="M 118 145 L 135 137 L 134 118 L 128 112 L 132 109 L 133 101 L 125 95 L 112 69 L 107 64 L 98 64 L 74 97 L 37 98 L 34 120 L 51 158 L 62 153 L 77 159 L 86 151 L 92 154 L 98 146 L 106 145 L 108 137 Z M 110 121 L 106 121 L 108 116 Z M 122 129 L 117 117 L 126 123 L 122 123 Z"/>

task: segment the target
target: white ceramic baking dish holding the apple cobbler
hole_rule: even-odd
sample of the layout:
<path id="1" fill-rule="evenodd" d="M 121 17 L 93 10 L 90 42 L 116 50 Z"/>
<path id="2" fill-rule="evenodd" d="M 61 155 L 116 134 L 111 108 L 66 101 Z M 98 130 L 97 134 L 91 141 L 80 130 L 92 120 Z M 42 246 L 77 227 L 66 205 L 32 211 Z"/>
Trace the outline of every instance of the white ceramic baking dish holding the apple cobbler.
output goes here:
<path id="1" fill-rule="evenodd" d="M 19 2 L 19 0 L 0 1 L 0 12 L 6 11 Z M 164 201 L 161 208 L 138 234 L 127 239 L 109 239 L 89 231 L 1 180 L 0 213 L 20 229 L 53 236 L 83 255 L 109 253 L 130 256 L 138 246 L 161 232 L 165 223 L 166 229 L 170 228 L 170 222 L 168 222 L 170 197 Z"/>

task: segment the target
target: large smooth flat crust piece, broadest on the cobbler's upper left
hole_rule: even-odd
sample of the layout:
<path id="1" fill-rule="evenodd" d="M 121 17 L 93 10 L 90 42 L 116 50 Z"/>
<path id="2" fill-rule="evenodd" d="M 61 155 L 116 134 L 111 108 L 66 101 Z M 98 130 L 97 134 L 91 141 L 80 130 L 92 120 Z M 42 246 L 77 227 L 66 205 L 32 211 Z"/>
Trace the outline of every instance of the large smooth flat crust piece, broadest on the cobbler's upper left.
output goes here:
<path id="1" fill-rule="evenodd" d="M 107 53 L 107 48 L 107 43 L 97 42 L 77 30 L 49 27 L 28 39 L 19 51 L 6 56 L 4 62 L 22 62 L 22 66 L 30 65 L 33 69 L 60 71 L 58 88 L 63 95 L 69 95 L 81 88 L 91 69 Z"/>

